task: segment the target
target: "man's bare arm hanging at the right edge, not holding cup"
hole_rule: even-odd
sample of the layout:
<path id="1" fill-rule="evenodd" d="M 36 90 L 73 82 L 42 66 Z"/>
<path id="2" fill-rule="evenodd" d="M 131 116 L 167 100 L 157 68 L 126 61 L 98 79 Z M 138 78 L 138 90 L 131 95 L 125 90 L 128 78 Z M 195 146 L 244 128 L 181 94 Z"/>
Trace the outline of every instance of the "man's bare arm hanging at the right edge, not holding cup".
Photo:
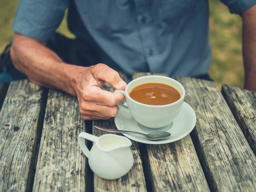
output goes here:
<path id="1" fill-rule="evenodd" d="M 256 5 L 242 14 L 244 88 L 256 92 Z"/>

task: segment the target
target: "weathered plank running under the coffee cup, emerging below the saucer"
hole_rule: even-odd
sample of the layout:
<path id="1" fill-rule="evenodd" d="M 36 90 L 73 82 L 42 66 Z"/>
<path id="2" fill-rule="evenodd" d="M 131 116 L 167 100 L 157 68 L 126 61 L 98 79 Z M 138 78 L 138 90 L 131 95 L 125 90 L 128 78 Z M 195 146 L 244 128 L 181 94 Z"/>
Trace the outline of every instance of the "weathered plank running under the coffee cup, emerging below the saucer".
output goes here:
<path id="1" fill-rule="evenodd" d="M 140 76 L 143 76 L 143 73 L 134 73 L 133 79 Z M 150 176 L 153 191 L 209 191 L 207 180 L 189 135 L 174 143 L 141 144 L 140 148 L 143 163 L 148 165 L 146 175 Z"/>

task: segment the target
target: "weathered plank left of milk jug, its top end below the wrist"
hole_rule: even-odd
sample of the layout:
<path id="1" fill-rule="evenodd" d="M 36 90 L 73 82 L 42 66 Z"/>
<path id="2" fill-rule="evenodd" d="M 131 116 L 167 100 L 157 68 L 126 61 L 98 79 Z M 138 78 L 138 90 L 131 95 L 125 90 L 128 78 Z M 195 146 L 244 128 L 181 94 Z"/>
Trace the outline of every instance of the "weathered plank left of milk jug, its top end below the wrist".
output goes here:
<path id="1" fill-rule="evenodd" d="M 87 159 L 77 142 L 82 131 L 77 99 L 49 90 L 33 191 L 85 191 Z"/>

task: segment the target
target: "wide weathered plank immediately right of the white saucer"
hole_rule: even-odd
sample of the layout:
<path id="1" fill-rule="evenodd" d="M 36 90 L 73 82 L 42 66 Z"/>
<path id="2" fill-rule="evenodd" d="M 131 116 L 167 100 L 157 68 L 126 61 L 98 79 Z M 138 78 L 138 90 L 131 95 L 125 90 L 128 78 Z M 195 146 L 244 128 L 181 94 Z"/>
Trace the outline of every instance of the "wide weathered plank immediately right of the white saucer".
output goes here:
<path id="1" fill-rule="evenodd" d="M 256 157 L 212 81 L 177 77 L 197 115 L 192 140 L 213 191 L 256 191 Z"/>

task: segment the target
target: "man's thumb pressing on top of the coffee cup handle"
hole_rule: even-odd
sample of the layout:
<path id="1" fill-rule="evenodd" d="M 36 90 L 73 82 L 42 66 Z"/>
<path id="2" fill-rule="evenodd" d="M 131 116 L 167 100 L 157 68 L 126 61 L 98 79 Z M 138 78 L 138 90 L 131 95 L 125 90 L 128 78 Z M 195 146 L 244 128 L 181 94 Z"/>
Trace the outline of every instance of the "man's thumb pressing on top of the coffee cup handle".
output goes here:
<path id="1" fill-rule="evenodd" d="M 125 81 L 121 79 L 118 72 L 105 64 L 96 64 L 92 69 L 92 74 L 96 80 L 100 79 L 106 81 L 118 90 L 124 90 L 127 85 Z"/>

